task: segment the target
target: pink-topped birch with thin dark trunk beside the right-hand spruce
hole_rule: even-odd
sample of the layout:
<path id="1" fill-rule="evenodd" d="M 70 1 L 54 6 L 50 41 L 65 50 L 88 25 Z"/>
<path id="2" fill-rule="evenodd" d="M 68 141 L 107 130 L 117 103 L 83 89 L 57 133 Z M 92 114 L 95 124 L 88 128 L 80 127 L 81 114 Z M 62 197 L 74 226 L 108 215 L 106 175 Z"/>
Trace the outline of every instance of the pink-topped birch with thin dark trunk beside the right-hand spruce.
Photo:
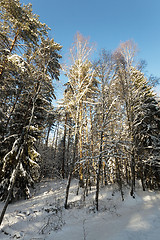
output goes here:
<path id="1" fill-rule="evenodd" d="M 122 43 L 114 53 L 116 62 L 117 90 L 124 104 L 126 112 L 126 126 L 128 128 L 130 167 L 131 167 L 131 196 L 135 191 L 135 152 L 133 135 L 133 82 L 131 78 L 131 67 L 134 64 L 136 45 L 132 41 Z"/>

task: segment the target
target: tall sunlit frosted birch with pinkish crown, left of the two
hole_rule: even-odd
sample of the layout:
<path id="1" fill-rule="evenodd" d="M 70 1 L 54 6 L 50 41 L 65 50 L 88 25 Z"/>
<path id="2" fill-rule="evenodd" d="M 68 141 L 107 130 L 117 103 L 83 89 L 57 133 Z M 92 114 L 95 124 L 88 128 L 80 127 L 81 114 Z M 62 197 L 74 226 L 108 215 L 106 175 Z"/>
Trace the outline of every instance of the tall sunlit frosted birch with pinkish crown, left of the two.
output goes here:
<path id="1" fill-rule="evenodd" d="M 64 107 L 70 112 L 74 121 L 74 151 L 78 149 L 79 153 L 79 184 L 84 186 L 83 179 L 83 132 L 84 132 L 84 107 L 86 103 L 92 101 L 92 96 L 97 90 L 96 73 L 92 67 L 88 57 L 92 51 L 88 39 L 85 39 L 81 34 L 77 33 L 73 47 L 70 49 L 72 65 L 65 70 L 68 77 L 68 91 L 64 98 Z M 76 146 L 76 144 L 78 144 Z M 75 157 L 73 157 L 75 158 Z M 75 161 L 73 161 L 75 163 Z M 73 170 L 73 167 L 72 167 Z M 65 204 L 66 205 L 66 204 Z"/>

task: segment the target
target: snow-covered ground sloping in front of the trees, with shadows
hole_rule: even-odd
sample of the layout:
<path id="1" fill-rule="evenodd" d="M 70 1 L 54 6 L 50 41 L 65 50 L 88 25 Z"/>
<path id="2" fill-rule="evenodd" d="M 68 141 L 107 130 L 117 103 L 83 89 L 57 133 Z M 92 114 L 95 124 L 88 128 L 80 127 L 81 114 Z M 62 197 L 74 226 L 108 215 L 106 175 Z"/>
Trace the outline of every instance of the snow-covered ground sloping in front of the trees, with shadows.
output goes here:
<path id="1" fill-rule="evenodd" d="M 66 181 L 43 181 L 33 197 L 9 205 L 0 239 L 23 240 L 158 240 L 160 239 L 160 193 L 137 190 L 136 198 L 125 189 L 125 201 L 113 187 L 100 192 L 95 211 L 94 189 L 83 201 L 77 181 L 70 189 L 70 208 L 63 208 Z M 0 211 L 4 203 L 0 203 Z"/>

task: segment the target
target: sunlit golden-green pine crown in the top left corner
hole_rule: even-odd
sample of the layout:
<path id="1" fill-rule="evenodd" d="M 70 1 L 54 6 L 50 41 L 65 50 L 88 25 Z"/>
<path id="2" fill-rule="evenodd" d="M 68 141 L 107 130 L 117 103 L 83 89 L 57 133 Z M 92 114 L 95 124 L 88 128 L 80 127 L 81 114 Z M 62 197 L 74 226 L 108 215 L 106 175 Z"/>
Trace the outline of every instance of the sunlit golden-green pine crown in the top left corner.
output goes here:
<path id="1" fill-rule="evenodd" d="M 38 44 L 42 35 L 47 35 L 48 27 L 33 14 L 31 4 L 21 6 L 19 0 L 2 0 L 0 2 L 1 38 L 5 39 L 2 51 L 10 55 L 17 49 L 30 44 Z M 11 40 L 10 40 L 11 39 Z M 4 55 L 3 55 L 4 56 Z M 0 77 L 7 67 L 7 58 L 1 62 Z"/>

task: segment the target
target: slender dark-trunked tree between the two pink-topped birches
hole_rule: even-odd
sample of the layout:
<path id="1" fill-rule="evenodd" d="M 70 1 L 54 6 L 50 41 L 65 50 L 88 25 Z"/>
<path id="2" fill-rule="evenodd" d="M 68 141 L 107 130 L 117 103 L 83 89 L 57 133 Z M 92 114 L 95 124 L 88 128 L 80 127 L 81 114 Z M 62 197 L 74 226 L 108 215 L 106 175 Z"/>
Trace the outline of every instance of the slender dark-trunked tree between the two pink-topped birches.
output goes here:
<path id="1" fill-rule="evenodd" d="M 97 131 L 95 132 L 96 142 L 96 162 L 97 162 L 97 176 L 96 176 L 96 209 L 99 208 L 99 190 L 100 178 L 105 178 L 106 183 L 106 166 L 108 165 L 109 152 L 112 151 L 111 144 L 111 125 L 115 123 L 116 101 L 117 97 L 113 94 L 112 81 L 114 77 L 114 63 L 111 54 L 102 51 L 99 61 L 96 63 L 96 72 L 99 80 L 99 93 L 97 96 L 98 104 L 95 107 L 95 124 Z"/>

